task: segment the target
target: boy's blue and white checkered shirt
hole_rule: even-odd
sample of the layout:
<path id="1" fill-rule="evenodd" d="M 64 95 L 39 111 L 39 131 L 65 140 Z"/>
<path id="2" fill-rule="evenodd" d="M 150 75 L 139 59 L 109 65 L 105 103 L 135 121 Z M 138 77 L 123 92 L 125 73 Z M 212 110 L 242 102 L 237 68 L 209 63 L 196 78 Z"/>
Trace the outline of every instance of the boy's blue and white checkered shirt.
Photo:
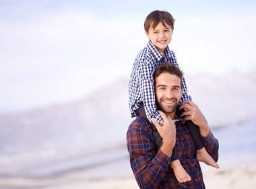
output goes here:
<path id="1" fill-rule="evenodd" d="M 139 108 L 142 102 L 149 120 L 152 118 L 156 118 L 158 122 L 162 120 L 162 117 L 156 111 L 154 91 L 154 72 L 162 63 L 178 65 L 174 52 L 168 46 L 165 49 L 165 54 L 163 54 L 149 41 L 147 46 L 137 55 L 133 63 L 133 70 L 129 81 L 129 107 L 131 117 L 136 116 L 135 110 Z M 187 93 L 187 86 L 183 77 L 183 96 L 181 96 L 180 103 L 184 100 L 192 99 Z"/>

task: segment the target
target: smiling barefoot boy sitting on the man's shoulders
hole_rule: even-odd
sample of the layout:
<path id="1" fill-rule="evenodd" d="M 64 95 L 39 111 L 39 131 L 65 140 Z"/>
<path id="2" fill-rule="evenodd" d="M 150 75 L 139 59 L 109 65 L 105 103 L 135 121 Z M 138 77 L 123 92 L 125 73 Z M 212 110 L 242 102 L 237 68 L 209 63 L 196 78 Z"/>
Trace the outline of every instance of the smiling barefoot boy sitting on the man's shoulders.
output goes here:
<path id="1" fill-rule="evenodd" d="M 144 29 L 150 41 L 148 45 L 139 52 L 133 63 L 133 70 L 129 82 L 129 107 L 131 117 L 140 114 L 148 118 L 150 122 L 152 122 L 152 118 L 156 118 L 159 123 L 162 123 L 162 117 L 156 110 L 153 75 L 156 67 L 162 63 L 173 63 L 177 65 L 174 52 L 168 48 L 168 44 L 172 40 L 174 19 L 167 11 L 152 11 L 152 13 L 146 17 Z M 183 96 L 181 97 L 181 102 L 185 100 L 191 100 L 191 96 L 187 93 L 187 86 L 183 78 Z M 184 108 L 184 110 L 186 111 L 187 109 Z M 190 122 L 189 130 L 195 141 L 197 160 L 218 168 L 218 164 L 202 145 L 199 130 L 193 122 Z M 156 136 L 156 133 L 154 136 Z M 160 144 L 156 145 L 159 149 Z M 181 180 L 182 182 L 191 180 L 191 177 L 185 172 L 185 169 L 182 167 L 174 152 L 172 153 L 170 166 L 179 182 L 181 182 Z"/>

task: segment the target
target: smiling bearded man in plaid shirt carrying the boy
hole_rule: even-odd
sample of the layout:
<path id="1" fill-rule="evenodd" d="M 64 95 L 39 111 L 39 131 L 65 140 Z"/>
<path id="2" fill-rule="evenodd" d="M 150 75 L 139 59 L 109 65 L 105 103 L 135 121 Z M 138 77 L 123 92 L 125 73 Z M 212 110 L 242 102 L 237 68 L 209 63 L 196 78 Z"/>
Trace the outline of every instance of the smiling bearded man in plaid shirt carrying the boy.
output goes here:
<path id="1" fill-rule="evenodd" d="M 187 112 L 178 117 L 176 110 L 183 93 L 183 73 L 179 67 L 164 63 L 155 73 L 156 104 L 164 119 L 162 126 L 155 118 L 151 124 L 143 116 L 137 116 L 127 131 L 127 148 L 131 168 L 140 188 L 205 188 L 201 167 L 196 159 L 195 145 L 185 120 L 199 126 L 201 140 L 211 157 L 218 161 L 218 140 L 214 138 L 207 121 L 199 108 L 191 102 L 181 105 Z M 175 123 L 174 123 L 175 122 Z M 155 131 L 161 139 L 157 139 Z M 189 180 L 179 182 L 170 167 L 172 150 L 178 153 L 179 160 Z"/>

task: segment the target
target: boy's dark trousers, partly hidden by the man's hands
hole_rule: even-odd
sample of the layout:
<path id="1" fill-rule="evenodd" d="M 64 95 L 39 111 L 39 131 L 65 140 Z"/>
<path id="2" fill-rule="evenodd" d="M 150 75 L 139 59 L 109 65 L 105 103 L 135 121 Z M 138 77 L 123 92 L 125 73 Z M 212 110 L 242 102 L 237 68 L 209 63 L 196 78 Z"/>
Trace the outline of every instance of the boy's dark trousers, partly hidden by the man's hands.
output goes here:
<path id="1" fill-rule="evenodd" d="M 179 107 L 177 107 L 177 114 L 178 116 L 183 112 L 184 110 L 179 110 Z M 146 116 L 146 112 L 145 112 L 145 108 L 143 106 L 143 104 L 141 104 L 139 106 L 139 108 L 136 110 L 136 113 L 139 115 L 139 116 L 142 116 L 143 118 L 147 118 Z M 189 121 L 186 121 L 186 124 L 189 128 L 189 133 L 191 134 L 191 137 L 194 141 L 194 144 L 195 144 L 195 150 L 198 150 L 198 149 L 201 149 L 204 147 L 202 141 L 201 141 L 201 137 L 200 137 L 200 133 L 199 133 L 199 127 L 196 126 L 195 124 L 193 124 L 193 122 L 191 122 L 191 120 Z M 154 135 L 154 138 L 155 138 L 155 142 L 156 142 L 156 147 L 158 149 L 160 149 L 161 145 L 162 145 L 162 137 L 160 136 L 160 134 L 158 133 L 158 130 L 156 129 L 156 126 L 154 126 L 154 130 L 153 130 L 153 135 Z M 175 149 L 175 147 L 174 147 Z M 175 150 L 172 150 L 172 157 L 171 157 L 171 161 L 174 161 L 174 160 L 177 160 L 179 159 L 177 157 L 177 154 L 175 153 Z"/>

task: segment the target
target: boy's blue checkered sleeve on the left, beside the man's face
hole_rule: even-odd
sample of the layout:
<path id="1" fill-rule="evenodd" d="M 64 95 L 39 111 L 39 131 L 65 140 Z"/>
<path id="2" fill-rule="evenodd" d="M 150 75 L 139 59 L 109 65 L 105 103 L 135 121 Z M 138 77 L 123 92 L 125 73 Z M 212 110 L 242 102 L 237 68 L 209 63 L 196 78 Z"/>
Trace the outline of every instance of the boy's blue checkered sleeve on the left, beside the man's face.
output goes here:
<path id="1" fill-rule="evenodd" d="M 148 120 L 151 122 L 152 118 L 156 118 L 160 123 L 162 116 L 156 110 L 154 70 L 154 65 L 150 61 L 140 61 L 137 78 L 139 79 L 139 90 Z"/>

